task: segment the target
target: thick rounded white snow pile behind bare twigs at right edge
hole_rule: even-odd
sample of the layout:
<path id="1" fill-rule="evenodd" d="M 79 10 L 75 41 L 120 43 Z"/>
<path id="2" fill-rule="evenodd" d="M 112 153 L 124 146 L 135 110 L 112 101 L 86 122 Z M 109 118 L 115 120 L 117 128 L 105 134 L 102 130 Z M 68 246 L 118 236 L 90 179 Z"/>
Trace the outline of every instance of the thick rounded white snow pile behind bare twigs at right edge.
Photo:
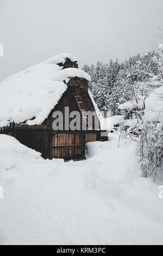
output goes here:
<path id="1" fill-rule="evenodd" d="M 145 105 L 145 120 L 163 123 L 163 86 L 154 90 L 146 99 Z"/>

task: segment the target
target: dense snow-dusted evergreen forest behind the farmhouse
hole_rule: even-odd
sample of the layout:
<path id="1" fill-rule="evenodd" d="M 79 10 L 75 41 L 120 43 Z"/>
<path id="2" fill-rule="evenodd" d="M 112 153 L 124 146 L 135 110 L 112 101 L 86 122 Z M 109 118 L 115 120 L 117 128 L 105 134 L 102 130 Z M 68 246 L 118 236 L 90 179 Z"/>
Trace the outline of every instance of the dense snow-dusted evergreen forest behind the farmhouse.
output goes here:
<path id="1" fill-rule="evenodd" d="M 160 46 L 161 47 L 161 46 Z M 160 53 L 159 53 L 160 54 Z M 153 77 L 161 77 L 162 66 L 158 53 L 137 54 L 122 63 L 110 60 L 108 64 L 85 65 L 83 70 L 92 78 L 90 90 L 101 111 L 118 113 L 118 105 L 139 96 L 149 94 Z M 148 84 L 148 86 L 147 86 Z"/>

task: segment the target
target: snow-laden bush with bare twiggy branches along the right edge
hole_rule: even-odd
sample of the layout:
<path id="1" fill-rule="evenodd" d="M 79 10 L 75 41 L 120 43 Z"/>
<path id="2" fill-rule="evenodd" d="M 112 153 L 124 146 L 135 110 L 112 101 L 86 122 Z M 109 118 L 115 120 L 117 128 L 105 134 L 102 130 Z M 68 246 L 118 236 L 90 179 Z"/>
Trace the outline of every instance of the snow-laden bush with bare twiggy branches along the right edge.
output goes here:
<path id="1" fill-rule="evenodd" d="M 162 44 L 159 57 L 162 57 Z M 162 72 L 162 58 L 158 58 Z M 153 80 L 154 81 L 154 80 Z M 140 137 L 141 166 L 146 178 L 163 178 L 163 76 L 152 83 L 152 93 L 145 100 L 145 116 Z M 159 86 L 159 88 L 157 88 Z"/>

